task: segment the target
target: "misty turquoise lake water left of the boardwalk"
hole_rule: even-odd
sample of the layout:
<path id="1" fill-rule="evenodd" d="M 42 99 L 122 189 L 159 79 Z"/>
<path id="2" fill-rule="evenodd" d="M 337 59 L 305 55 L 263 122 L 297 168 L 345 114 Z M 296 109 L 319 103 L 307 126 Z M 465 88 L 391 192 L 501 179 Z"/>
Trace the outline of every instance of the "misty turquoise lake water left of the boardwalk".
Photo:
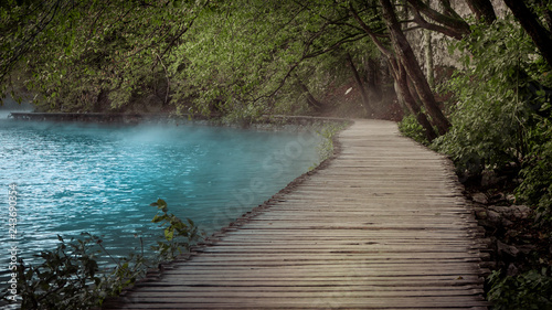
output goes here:
<path id="1" fill-rule="evenodd" d="M 0 116 L 2 117 L 2 116 Z M 9 249 L 32 260 L 56 235 L 100 235 L 125 254 L 160 234 L 149 204 L 208 234 L 262 204 L 318 162 L 314 132 L 264 132 L 190 125 L 88 125 L 0 118 L 0 277 Z M 9 235 L 9 185 L 17 184 L 17 237 Z"/>

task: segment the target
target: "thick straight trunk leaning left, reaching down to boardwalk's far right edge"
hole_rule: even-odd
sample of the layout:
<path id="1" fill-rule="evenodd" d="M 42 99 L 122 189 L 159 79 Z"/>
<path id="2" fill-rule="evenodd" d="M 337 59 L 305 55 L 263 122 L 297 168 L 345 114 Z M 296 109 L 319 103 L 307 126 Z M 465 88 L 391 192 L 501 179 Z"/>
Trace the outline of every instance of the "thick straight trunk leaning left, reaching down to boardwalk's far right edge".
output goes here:
<path id="1" fill-rule="evenodd" d="M 411 78 L 416 93 L 427 110 L 427 114 L 429 114 L 433 122 L 437 127 L 439 135 L 445 135 L 450 127 L 450 122 L 439 109 L 437 101 L 433 96 L 432 88 L 429 87 L 429 84 L 427 84 L 427 79 L 416 61 L 414 51 L 401 30 L 401 25 L 396 19 L 395 12 L 393 11 L 393 6 L 390 0 L 380 0 L 380 3 L 383 8 L 383 20 L 390 32 L 391 42 L 395 53 L 401 64 L 404 66 L 406 74 Z"/>

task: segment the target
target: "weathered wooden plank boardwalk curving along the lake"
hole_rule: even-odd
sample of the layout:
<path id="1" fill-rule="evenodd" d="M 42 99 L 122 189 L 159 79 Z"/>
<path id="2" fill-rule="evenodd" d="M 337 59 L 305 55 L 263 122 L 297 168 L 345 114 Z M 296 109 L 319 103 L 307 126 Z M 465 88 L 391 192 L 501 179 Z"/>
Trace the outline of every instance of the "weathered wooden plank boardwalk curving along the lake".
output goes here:
<path id="1" fill-rule="evenodd" d="M 105 309 L 487 309 L 450 163 L 359 120 L 340 154 Z"/>

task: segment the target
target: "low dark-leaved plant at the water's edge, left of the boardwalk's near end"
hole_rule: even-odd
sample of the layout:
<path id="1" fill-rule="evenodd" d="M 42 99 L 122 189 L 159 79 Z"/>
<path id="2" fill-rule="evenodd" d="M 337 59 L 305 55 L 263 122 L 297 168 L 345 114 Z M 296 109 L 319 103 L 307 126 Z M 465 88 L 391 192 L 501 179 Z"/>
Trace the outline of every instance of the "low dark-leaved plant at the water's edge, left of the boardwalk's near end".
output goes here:
<path id="1" fill-rule="evenodd" d="M 140 238 L 140 253 L 116 258 L 103 245 L 102 238 L 82 233 L 81 238 L 65 240 L 57 236 L 55 249 L 35 255 L 42 263 L 25 265 L 19 260 L 17 268 L 21 309 L 91 309 L 100 307 L 108 297 L 119 295 L 123 289 L 145 277 L 159 263 L 173 260 L 179 254 L 190 250 L 201 235 L 198 226 L 187 218 L 182 221 L 169 213 L 167 202 L 159 199 L 151 206 L 158 209 L 151 222 L 163 228 L 162 239 L 152 246 L 153 257 L 147 257 Z M 100 269 L 98 260 L 108 257 L 113 266 Z M 4 292 L 2 299 L 8 299 Z"/>

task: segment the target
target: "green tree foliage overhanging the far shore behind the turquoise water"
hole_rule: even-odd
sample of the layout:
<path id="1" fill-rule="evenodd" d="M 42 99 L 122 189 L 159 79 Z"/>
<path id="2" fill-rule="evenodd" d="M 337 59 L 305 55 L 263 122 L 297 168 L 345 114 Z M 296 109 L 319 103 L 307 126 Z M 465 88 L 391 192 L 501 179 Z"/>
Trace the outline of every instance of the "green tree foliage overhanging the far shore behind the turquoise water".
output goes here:
<path id="1" fill-rule="evenodd" d="M 347 3 L 326 0 L 10 1 L 0 18 L 10 25 L 0 84 L 23 84 L 50 111 L 174 109 L 246 124 L 307 111 L 299 83 L 316 96 L 349 78 L 344 51 L 374 51 L 346 22 Z"/>

